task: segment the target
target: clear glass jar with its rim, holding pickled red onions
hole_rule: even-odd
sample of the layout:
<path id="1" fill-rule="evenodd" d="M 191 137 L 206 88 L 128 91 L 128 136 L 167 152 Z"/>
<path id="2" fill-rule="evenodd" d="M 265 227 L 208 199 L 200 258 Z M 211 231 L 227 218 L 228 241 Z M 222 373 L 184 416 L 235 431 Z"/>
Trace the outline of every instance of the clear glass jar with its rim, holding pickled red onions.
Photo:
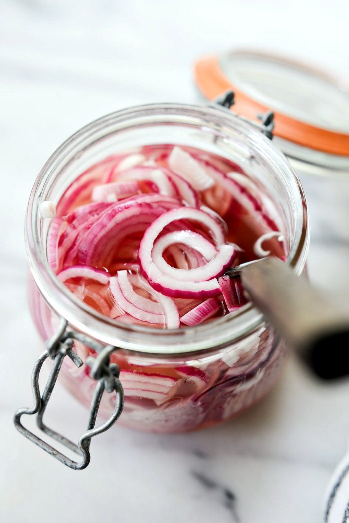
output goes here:
<path id="1" fill-rule="evenodd" d="M 214 321 L 158 330 L 121 324 L 99 314 L 59 281 L 47 259 L 49 220 L 43 201 L 58 203 L 88 166 L 110 154 L 149 144 L 177 143 L 241 165 L 273 201 L 286 239 L 287 263 L 301 274 L 309 244 L 306 202 L 285 156 L 255 126 L 219 106 L 159 104 L 121 110 L 78 131 L 51 156 L 30 196 L 26 242 L 32 278 L 30 308 L 43 340 L 64 317 L 72 328 L 119 349 L 125 406 L 119 423 L 159 433 L 194 430 L 223 422 L 260 400 L 276 382 L 285 360 L 282 340 L 251 303 Z M 83 361 L 93 350 L 75 342 Z M 91 404 L 95 381 L 89 368 L 65 358 L 66 387 Z M 104 394 L 108 416 L 114 396 Z"/>

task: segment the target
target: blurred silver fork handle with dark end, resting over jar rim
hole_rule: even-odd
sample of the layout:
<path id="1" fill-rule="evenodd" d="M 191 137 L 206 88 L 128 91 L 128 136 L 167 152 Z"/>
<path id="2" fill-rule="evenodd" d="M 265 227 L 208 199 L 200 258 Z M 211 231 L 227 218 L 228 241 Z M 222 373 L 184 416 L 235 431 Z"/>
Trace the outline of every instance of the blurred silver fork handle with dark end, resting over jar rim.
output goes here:
<path id="1" fill-rule="evenodd" d="M 276 258 L 241 270 L 249 298 L 323 379 L 349 374 L 349 309 Z"/>

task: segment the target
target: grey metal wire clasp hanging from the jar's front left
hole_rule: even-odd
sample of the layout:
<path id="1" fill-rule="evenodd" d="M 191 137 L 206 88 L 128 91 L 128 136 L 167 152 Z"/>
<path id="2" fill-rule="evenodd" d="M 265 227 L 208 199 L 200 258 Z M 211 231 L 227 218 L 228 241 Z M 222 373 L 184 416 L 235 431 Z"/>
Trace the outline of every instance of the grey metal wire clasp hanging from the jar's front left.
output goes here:
<path id="1" fill-rule="evenodd" d="M 63 360 L 68 356 L 76 367 L 84 365 L 83 361 L 73 351 L 74 339 L 88 345 L 94 349 L 98 354 L 96 358 L 89 357 L 86 360 L 86 364 L 91 367 L 91 376 L 97 381 L 96 389 L 93 395 L 91 406 L 89 408 L 88 421 L 86 431 L 80 437 L 78 444 L 76 445 L 71 440 L 65 438 L 55 430 L 50 429 L 43 423 L 43 415 L 46 411 L 47 404 L 50 400 L 54 385 L 57 381 L 58 374 L 61 370 Z M 26 438 L 30 439 L 33 443 L 38 445 L 41 449 L 45 450 L 51 456 L 58 459 L 67 467 L 74 470 L 85 469 L 91 459 L 89 453 L 89 446 L 91 439 L 98 434 L 103 433 L 111 425 L 113 425 L 121 414 L 123 407 L 123 390 L 119 381 L 119 367 L 116 364 L 109 364 L 109 356 L 112 352 L 117 350 L 114 345 L 102 345 L 93 338 L 73 330 L 67 330 L 67 322 L 62 319 L 57 329 L 57 332 L 46 342 L 46 351 L 38 358 L 32 373 L 32 392 L 34 397 L 33 408 L 21 408 L 16 412 L 14 417 L 14 423 L 19 432 Z M 39 374 L 44 361 L 47 358 L 53 359 L 53 367 L 46 384 L 46 388 L 41 396 L 39 389 Z M 116 402 L 115 408 L 109 419 L 102 425 L 95 427 L 96 418 L 98 414 L 98 408 L 100 401 L 102 400 L 103 392 L 106 391 L 111 393 L 115 391 Z M 60 444 L 64 445 L 68 449 L 81 454 L 82 460 L 77 462 L 68 458 L 59 450 L 52 447 L 43 439 L 33 434 L 30 430 L 25 428 L 21 423 L 21 417 L 24 414 L 37 415 L 36 422 L 38 427 L 46 434 L 59 441 Z"/>

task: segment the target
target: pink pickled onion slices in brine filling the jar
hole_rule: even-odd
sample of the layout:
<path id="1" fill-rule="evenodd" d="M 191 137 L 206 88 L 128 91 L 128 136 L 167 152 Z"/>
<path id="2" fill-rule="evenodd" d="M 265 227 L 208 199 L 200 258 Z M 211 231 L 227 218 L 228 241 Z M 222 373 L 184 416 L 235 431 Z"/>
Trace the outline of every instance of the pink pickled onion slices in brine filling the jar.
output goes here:
<path id="1" fill-rule="evenodd" d="M 234 314 L 247 300 L 229 268 L 287 256 L 272 200 L 239 165 L 182 145 L 147 145 L 89 167 L 60 198 L 47 253 L 51 268 L 85 304 L 118 324 L 194 328 Z M 43 338 L 55 320 L 36 289 L 32 311 Z M 93 351 L 75 342 L 86 360 Z M 157 432 L 228 419 L 273 385 L 285 350 L 266 326 L 195 355 L 120 349 L 125 407 L 120 423 Z M 64 382 L 87 406 L 89 368 L 63 366 Z M 112 400 L 105 396 L 107 416 Z"/>

